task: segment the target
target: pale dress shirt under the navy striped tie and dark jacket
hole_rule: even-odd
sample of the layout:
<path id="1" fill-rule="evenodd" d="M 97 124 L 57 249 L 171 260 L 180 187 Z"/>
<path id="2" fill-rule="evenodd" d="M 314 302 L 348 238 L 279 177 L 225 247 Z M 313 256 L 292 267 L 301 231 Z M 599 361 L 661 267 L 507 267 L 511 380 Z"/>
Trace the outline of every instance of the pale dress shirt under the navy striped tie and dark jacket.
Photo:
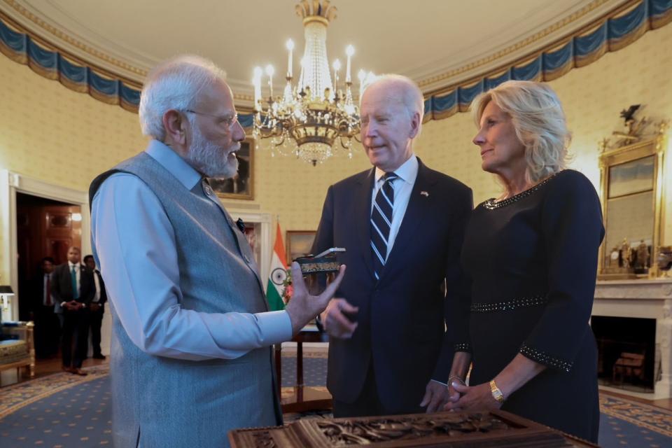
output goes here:
<path id="1" fill-rule="evenodd" d="M 394 174 L 399 176 L 399 179 L 393 181 L 392 186 L 394 188 L 394 202 L 392 206 L 392 225 L 390 226 L 390 235 L 387 240 L 387 257 L 392 251 L 392 246 L 394 246 L 394 241 L 397 238 L 399 233 L 399 228 L 401 227 L 401 222 L 404 219 L 406 214 L 406 208 L 408 207 L 408 201 L 411 197 L 411 192 L 413 190 L 413 185 L 415 179 L 418 176 L 418 158 L 415 154 L 411 155 L 409 160 L 402 163 L 400 167 L 394 170 Z M 373 205 L 376 202 L 376 195 L 378 190 L 383 186 L 383 176 L 385 172 L 376 167 L 376 182 L 373 185 L 373 191 L 371 192 L 371 213 L 373 213 Z"/>

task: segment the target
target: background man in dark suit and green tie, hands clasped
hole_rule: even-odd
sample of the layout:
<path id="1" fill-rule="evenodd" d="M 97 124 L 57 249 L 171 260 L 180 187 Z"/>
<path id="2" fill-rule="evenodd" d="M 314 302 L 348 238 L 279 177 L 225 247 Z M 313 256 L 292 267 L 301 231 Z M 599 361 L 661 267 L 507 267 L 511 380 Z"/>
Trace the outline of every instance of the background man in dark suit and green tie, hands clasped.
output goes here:
<path id="1" fill-rule="evenodd" d="M 62 356 L 63 370 L 85 375 L 82 361 L 88 346 L 89 304 L 95 293 L 92 272 L 80 265 L 79 248 L 68 249 L 68 262 L 54 270 L 51 290 L 64 313 Z M 74 344 L 74 353 L 73 353 Z"/>

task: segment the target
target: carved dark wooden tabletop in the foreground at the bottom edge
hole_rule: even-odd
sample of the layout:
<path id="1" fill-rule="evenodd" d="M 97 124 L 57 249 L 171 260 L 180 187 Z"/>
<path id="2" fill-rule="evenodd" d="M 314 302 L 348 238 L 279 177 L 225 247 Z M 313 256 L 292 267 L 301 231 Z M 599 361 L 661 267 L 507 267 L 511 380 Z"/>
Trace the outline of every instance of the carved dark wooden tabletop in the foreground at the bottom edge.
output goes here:
<path id="1" fill-rule="evenodd" d="M 229 432 L 232 448 L 596 447 L 504 411 L 302 419 Z"/>

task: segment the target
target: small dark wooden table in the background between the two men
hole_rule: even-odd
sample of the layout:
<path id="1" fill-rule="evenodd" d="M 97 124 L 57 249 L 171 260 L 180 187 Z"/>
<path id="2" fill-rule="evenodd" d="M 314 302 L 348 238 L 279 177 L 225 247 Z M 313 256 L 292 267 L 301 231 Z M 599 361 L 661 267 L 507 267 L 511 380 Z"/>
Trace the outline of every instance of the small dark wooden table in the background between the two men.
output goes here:
<path id="1" fill-rule="evenodd" d="M 331 394 L 314 387 L 309 387 L 303 381 L 303 343 L 328 342 L 326 333 L 319 331 L 300 331 L 292 338 L 296 342 L 296 385 L 292 395 L 281 400 L 282 412 L 307 412 L 321 409 L 331 409 Z M 275 364 L 278 377 L 278 387 L 281 388 L 282 368 L 281 345 L 275 346 Z M 280 391 L 279 391 L 280 392 Z"/>

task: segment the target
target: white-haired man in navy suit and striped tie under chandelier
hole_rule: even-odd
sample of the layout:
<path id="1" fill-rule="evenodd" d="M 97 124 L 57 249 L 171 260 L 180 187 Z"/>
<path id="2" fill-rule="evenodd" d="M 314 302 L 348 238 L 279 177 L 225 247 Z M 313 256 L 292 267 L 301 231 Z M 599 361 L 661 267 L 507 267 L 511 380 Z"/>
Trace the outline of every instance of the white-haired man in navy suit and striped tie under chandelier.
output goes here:
<path id="1" fill-rule="evenodd" d="M 458 258 L 472 193 L 414 155 L 423 97 L 412 80 L 374 81 L 360 116 L 374 167 L 330 186 L 313 245 L 346 248 L 344 298 L 321 314 L 334 415 L 434 412 L 447 401 L 450 308 L 469 293 Z"/>

